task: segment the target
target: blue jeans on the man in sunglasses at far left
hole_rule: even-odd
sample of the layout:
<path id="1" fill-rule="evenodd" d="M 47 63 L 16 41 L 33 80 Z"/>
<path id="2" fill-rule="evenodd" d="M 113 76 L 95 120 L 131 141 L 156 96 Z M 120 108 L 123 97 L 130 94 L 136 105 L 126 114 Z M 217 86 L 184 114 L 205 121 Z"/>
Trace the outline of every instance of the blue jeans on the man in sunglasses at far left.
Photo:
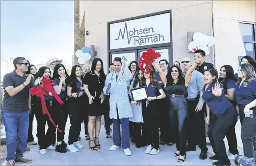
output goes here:
<path id="1" fill-rule="evenodd" d="M 22 113 L 3 113 L 6 132 L 6 161 L 23 157 L 28 140 L 29 111 Z"/>

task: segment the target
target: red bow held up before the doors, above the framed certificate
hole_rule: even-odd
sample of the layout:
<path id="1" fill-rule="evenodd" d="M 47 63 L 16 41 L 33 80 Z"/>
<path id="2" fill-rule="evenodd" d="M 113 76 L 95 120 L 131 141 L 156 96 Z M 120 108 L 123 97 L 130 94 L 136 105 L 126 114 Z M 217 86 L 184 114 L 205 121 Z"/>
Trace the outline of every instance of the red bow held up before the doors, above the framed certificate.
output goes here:
<path id="1" fill-rule="evenodd" d="M 147 52 L 142 53 L 142 56 L 139 59 L 140 70 L 143 71 L 143 65 L 146 67 L 146 74 L 149 73 L 149 66 L 152 65 L 152 60 L 156 60 L 161 56 L 160 53 L 155 52 L 151 47 L 148 48 Z M 143 58 L 143 60 L 142 60 Z"/>

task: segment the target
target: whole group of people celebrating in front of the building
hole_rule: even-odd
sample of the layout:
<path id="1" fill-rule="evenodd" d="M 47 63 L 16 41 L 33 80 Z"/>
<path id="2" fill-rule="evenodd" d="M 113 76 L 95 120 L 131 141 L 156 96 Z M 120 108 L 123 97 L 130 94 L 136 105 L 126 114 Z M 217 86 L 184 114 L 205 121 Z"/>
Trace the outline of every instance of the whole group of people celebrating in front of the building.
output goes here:
<path id="1" fill-rule="evenodd" d="M 185 161 L 186 152 L 196 151 L 196 144 L 201 149 L 199 158 L 207 158 L 206 122 L 215 153 L 209 160 L 215 161 L 215 166 L 231 165 L 230 160 L 238 154 L 235 125 L 240 118 L 243 153 L 253 157 L 256 150 L 256 60 L 244 56 L 236 74 L 231 66 L 224 65 L 218 77 L 215 66 L 204 59 L 205 52 L 196 50 L 194 63 L 189 57 L 182 59 L 183 70 L 179 62 L 170 66 L 168 60 L 160 60 L 158 64 L 153 60 L 147 71 L 146 68 L 141 70 L 136 61 L 126 67 L 125 61 L 116 57 L 105 75 L 102 60 L 95 58 L 91 67 L 75 65 L 68 75 L 61 61 L 51 60 L 37 71 L 28 60 L 17 57 L 13 60 L 15 70 L 3 78 L 7 165 L 32 161 L 23 157 L 23 152 L 29 150 L 27 144 L 37 144 L 32 135 L 34 115 L 41 154 L 47 149 L 60 153 L 79 151 L 83 147 L 79 142 L 82 122 L 89 148 L 99 150 L 101 116 L 104 115 L 106 138 L 111 137 L 113 129 L 114 144 L 109 150 L 122 146 L 124 153 L 130 156 L 132 141 L 137 148 L 145 147 L 145 153 L 156 155 L 160 144 L 176 144 L 173 156 L 178 157 L 178 162 Z M 29 93 L 29 88 L 39 86 L 43 77 L 54 80 L 53 89 L 64 103 L 60 104 L 51 92 L 44 96 L 47 110 L 62 131 L 57 131 L 57 135 L 56 127 L 43 115 L 40 97 Z M 140 87 L 145 87 L 147 99 L 133 100 L 132 90 Z M 68 116 L 71 126 L 66 144 Z M 225 136 L 229 150 L 225 148 Z"/>

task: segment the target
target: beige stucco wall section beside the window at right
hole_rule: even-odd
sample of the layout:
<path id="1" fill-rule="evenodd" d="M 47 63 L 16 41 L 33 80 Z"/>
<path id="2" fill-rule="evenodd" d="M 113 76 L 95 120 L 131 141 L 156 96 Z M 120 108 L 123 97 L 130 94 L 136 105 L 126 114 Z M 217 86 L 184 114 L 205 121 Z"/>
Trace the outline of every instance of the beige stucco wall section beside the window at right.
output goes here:
<path id="1" fill-rule="evenodd" d="M 215 64 L 238 68 L 238 56 L 245 56 L 238 21 L 256 22 L 256 1 L 213 1 Z"/>

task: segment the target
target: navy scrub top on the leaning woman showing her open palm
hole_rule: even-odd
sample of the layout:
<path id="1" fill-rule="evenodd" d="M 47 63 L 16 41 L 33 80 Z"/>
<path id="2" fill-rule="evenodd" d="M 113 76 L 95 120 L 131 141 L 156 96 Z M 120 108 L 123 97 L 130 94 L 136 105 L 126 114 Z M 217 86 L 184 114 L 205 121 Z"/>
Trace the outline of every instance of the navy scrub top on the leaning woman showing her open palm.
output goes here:
<path id="1" fill-rule="evenodd" d="M 212 88 L 214 88 L 215 84 L 210 84 L 209 87 L 203 91 L 202 98 L 205 100 L 205 103 L 209 106 L 209 109 L 215 115 L 223 114 L 228 108 L 233 106 L 233 104 L 228 101 L 228 99 L 224 95 L 224 88 L 220 85 L 222 89 L 221 96 L 215 96 L 212 94 Z"/>

